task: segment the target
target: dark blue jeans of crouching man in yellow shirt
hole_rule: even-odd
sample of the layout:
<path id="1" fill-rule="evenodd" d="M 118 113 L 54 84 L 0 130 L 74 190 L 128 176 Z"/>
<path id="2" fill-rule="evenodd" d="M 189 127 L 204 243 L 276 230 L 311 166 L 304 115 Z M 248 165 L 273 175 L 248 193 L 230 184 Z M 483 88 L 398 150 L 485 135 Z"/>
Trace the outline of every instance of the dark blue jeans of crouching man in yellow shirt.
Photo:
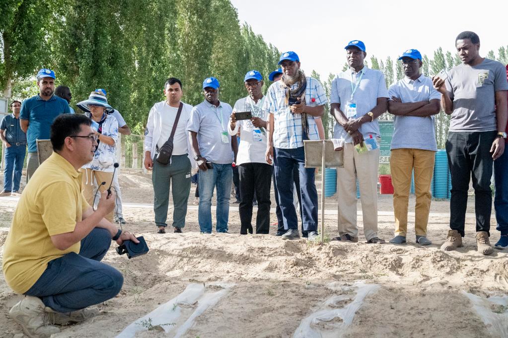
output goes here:
<path id="1" fill-rule="evenodd" d="M 113 298 L 123 284 L 122 274 L 101 263 L 111 245 L 111 233 L 95 228 L 74 252 L 51 260 L 39 280 L 25 295 L 42 299 L 57 312 L 72 312 Z"/>

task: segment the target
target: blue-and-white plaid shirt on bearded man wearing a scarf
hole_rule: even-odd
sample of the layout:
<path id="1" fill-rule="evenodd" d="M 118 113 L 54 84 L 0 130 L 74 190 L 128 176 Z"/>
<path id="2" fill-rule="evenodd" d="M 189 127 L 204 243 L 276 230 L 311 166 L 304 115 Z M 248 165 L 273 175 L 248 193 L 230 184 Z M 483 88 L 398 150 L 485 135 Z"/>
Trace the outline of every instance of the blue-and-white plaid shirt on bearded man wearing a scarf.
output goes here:
<path id="1" fill-rule="evenodd" d="M 273 114 L 273 146 L 282 149 L 294 149 L 303 146 L 302 117 L 300 114 L 292 114 L 289 105 L 285 103 L 285 89 L 281 87 L 279 80 L 268 88 L 263 110 Z M 298 84 L 291 86 L 295 89 Z M 312 101 L 314 99 L 314 101 Z M 327 103 L 325 90 L 319 81 L 307 77 L 305 89 L 305 104 L 311 107 Z M 319 140 L 317 126 L 314 117 L 307 115 L 309 135 L 306 139 Z"/>

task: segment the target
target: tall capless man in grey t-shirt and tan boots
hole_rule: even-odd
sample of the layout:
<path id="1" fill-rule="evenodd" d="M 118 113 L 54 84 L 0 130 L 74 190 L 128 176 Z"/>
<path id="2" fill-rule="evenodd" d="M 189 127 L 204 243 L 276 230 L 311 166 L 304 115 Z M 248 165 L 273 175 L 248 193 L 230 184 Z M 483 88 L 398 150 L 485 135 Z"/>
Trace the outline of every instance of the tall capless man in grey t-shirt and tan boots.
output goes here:
<path id="1" fill-rule="evenodd" d="M 446 149 L 452 174 L 450 231 L 441 249 L 462 246 L 469 177 L 472 175 L 478 251 L 493 252 L 489 242 L 492 209 L 492 161 L 504 152 L 508 83 L 504 66 L 479 54 L 480 38 L 464 31 L 455 40 L 462 64 L 447 79 L 434 77 L 441 105 L 452 116 Z M 496 109 L 497 107 L 497 109 Z"/>

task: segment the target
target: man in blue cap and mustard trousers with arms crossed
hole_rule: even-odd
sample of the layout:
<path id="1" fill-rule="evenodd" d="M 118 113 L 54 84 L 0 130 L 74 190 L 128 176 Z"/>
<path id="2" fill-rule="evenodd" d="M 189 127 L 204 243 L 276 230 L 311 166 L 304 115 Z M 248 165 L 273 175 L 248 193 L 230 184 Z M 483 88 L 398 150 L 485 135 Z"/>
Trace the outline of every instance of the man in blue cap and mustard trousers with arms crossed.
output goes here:
<path id="1" fill-rule="evenodd" d="M 395 237 L 393 244 L 406 242 L 407 206 L 411 185 L 411 171 L 415 171 L 415 233 L 416 242 L 429 245 L 430 183 L 437 151 L 434 115 L 439 114 L 441 95 L 432 80 L 420 72 L 422 55 L 416 49 L 406 50 L 399 62 L 405 78 L 390 86 L 388 111 L 394 115 L 390 171 L 393 184 Z"/>

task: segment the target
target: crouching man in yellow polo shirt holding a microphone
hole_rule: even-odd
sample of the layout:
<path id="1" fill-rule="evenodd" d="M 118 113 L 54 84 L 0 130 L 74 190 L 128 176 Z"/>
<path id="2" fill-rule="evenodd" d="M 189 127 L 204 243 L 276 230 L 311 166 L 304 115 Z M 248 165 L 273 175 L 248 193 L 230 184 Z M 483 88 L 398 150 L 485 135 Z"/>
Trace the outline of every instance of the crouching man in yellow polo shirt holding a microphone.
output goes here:
<path id="1" fill-rule="evenodd" d="M 104 217 L 115 193 L 104 192 L 96 211 L 81 195 L 79 168 L 92 160 L 97 132 L 83 115 L 60 115 L 51 125 L 54 153 L 37 169 L 19 200 L 4 248 L 7 284 L 25 297 L 9 312 L 30 337 L 81 322 L 85 309 L 114 297 L 123 277 L 101 263 L 111 244 L 139 243 Z"/>

